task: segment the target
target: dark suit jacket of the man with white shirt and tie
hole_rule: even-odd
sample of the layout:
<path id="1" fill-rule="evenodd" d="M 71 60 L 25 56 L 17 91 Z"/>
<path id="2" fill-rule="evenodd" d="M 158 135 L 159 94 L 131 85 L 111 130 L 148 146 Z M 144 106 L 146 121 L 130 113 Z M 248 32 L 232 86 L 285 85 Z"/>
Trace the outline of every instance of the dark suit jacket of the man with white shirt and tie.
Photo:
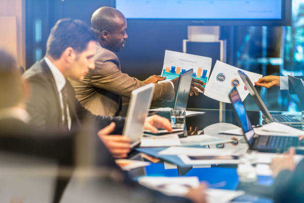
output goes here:
<path id="1" fill-rule="evenodd" d="M 31 123 L 42 130 L 58 129 L 62 124 L 59 94 L 53 74 L 45 60 L 36 62 L 23 74 L 23 78 L 28 81 L 31 88 L 31 95 L 26 103 Z M 93 115 L 76 100 L 74 89 L 68 80 L 66 83 L 72 120 L 71 129 L 77 129 L 85 122 L 96 122 L 99 128 L 115 122 L 116 128 L 113 134 L 122 133 L 125 118 Z"/>

